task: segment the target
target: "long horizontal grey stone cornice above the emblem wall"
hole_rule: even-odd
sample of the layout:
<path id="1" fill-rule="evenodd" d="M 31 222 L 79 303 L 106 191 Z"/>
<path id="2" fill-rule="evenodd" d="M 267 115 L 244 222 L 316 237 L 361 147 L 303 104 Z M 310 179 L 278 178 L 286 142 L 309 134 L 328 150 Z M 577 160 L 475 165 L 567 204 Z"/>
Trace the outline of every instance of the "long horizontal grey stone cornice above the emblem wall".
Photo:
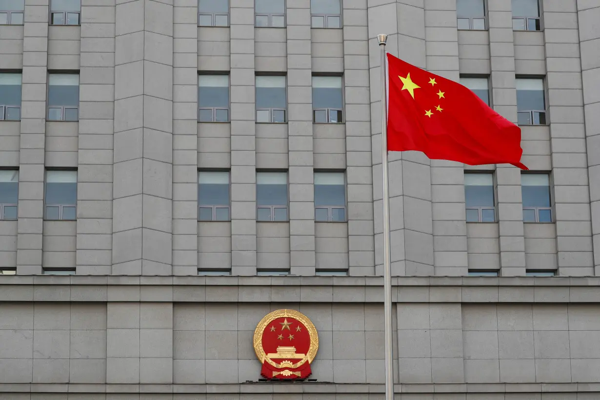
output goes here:
<path id="1" fill-rule="evenodd" d="M 0 276 L 0 302 L 383 301 L 381 277 Z M 600 276 L 555 278 L 398 276 L 401 303 L 600 303 Z"/>

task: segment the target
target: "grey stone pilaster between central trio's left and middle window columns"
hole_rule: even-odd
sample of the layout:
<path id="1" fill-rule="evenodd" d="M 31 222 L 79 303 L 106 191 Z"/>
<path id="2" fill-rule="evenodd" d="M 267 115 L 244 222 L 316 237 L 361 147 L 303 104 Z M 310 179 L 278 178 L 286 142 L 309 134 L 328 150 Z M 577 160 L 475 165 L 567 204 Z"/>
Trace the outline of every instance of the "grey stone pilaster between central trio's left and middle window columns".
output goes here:
<path id="1" fill-rule="evenodd" d="M 256 275 L 254 0 L 231 4 L 230 25 L 232 275 Z"/>

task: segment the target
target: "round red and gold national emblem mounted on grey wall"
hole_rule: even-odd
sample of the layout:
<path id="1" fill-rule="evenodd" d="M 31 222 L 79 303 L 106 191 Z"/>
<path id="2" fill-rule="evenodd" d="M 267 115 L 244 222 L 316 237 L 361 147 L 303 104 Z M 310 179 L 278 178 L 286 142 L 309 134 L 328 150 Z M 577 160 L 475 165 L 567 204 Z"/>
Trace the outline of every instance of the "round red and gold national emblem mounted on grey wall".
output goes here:
<path id="1" fill-rule="evenodd" d="M 254 330 L 254 351 L 268 379 L 307 378 L 319 348 L 319 336 L 306 315 L 278 309 L 260 320 Z"/>

